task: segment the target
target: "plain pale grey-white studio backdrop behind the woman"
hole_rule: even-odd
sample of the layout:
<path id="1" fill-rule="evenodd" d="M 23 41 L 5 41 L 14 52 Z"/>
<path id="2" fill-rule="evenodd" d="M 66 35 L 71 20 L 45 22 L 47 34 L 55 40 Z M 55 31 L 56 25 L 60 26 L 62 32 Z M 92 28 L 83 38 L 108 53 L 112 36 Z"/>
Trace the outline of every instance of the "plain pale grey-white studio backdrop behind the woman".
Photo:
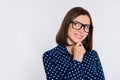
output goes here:
<path id="1" fill-rule="evenodd" d="M 76 6 L 92 16 L 106 80 L 120 80 L 119 0 L 0 0 L 0 80 L 46 80 L 42 55 Z"/>

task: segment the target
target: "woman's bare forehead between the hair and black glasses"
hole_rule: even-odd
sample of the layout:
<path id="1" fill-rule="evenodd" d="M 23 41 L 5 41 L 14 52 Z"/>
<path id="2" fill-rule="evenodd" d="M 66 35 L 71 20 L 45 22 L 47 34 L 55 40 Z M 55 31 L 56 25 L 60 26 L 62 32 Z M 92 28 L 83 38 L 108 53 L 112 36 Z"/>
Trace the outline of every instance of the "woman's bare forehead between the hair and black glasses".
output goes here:
<path id="1" fill-rule="evenodd" d="M 90 18 L 87 15 L 80 15 L 74 18 L 74 21 L 79 21 L 83 24 L 90 24 Z"/>

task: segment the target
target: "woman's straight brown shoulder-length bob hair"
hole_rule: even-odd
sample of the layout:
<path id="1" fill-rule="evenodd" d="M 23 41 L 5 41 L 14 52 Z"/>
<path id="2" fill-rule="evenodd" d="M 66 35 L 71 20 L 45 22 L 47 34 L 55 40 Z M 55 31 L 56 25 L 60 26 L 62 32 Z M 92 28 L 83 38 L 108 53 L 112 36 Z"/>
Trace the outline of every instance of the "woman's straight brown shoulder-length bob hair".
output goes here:
<path id="1" fill-rule="evenodd" d="M 68 13 L 65 15 L 63 22 L 61 24 L 61 27 L 56 35 L 56 43 L 58 45 L 65 45 L 69 46 L 67 42 L 67 34 L 68 34 L 68 27 L 69 24 L 73 19 L 80 15 L 87 15 L 90 18 L 90 31 L 88 33 L 88 36 L 83 40 L 83 45 L 86 49 L 86 52 L 90 52 L 92 50 L 92 41 L 93 41 L 93 24 L 92 19 L 87 10 L 85 10 L 82 7 L 74 7 L 68 11 Z"/>

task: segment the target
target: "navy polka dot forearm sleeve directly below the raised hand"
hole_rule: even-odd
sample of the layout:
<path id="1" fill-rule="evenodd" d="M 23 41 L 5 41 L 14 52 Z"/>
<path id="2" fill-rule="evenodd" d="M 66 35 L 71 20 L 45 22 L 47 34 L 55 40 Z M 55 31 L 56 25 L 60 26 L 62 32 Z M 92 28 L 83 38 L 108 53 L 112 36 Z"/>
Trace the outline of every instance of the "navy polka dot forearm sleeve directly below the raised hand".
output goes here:
<path id="1" fill-rule="evenodd" d="M 64 80 L 84 80 L 82 65 L 82 62 L 73 60 L 68 66 Z"/>

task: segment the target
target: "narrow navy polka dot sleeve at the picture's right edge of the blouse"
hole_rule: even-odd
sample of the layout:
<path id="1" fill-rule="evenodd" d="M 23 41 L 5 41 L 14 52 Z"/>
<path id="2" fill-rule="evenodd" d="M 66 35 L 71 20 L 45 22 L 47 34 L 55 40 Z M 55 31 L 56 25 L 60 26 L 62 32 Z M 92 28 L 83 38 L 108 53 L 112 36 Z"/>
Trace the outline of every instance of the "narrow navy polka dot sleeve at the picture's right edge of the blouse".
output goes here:
<path id="1" fill-rule="evenodd" d="M 96 52 L 95 55 L 95 69 L 96 69 L 96 73 L 94 76 L 94 80 L 105 80 L 105 76 L 104 76 L 104 72 L 103 72 L 103 68 L 102 68 L 102 64 L 99 58 L 98 53 Z"/>

